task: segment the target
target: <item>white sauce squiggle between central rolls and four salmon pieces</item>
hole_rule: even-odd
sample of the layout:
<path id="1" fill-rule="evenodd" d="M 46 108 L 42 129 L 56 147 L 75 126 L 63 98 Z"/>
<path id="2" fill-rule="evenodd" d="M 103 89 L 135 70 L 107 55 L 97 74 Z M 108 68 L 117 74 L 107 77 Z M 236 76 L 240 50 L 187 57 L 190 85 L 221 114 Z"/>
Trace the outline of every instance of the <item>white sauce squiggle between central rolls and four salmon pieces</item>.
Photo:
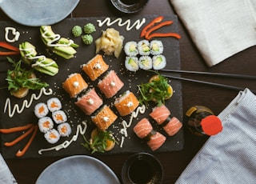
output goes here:
<path id="1" fill-rule="evenodd" d="M 135 112 L 132 112 L 132 114 L 130 115 L 129 123 L 127 123 L 125 120 L 122 121 L 123 128 L 119 131 L 120 134 L 123 134 L 120 147 L 122 147 L 124 139 L 126 137 L 128 137 L 127 128 L 129 128 L 131 126 L 131 123 L 133 122 L 133 119 L 138 117 L 138 113 L 144 114 L 145 111 L 146 111 L 146 106 L 144 106 L 144 105 L 143 106 L 138 106 L 137 110 Z"/>

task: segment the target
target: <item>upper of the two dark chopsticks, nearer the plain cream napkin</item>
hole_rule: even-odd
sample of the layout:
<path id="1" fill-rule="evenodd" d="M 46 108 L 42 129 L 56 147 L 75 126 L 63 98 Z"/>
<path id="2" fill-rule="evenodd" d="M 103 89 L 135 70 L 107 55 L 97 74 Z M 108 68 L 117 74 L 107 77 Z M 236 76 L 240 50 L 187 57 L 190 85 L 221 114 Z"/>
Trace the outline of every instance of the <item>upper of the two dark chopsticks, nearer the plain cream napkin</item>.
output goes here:
<path id="1" fill-rule="evenodd" d="M 173 73 L 183 73 L 183 74 L 204 74 L 204 75 L 215 75 L 219 77 L 227 77 L 227 78 L 245 78 L 245 79 L 256 79 L 254 75 L 245 75 L 245 74 L 224 74 L 224 73 L 211 73 L 211 72 L 203 72 L 203 71 L 190 71 L 190 70 L 169 70 L 164 69 L 161 71 L 173 72 Z"/>

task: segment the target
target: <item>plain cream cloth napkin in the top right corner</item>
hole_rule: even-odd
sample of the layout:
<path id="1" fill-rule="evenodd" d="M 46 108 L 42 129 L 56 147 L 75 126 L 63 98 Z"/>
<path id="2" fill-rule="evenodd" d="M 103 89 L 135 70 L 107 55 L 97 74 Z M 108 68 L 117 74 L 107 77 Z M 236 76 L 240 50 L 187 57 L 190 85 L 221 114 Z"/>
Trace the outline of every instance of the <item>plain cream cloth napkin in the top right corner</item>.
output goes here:
<path id="1" fill-rule="evenodd" d="M 170 0 L 208 66 L 256 45 L 255 0 Z"/>

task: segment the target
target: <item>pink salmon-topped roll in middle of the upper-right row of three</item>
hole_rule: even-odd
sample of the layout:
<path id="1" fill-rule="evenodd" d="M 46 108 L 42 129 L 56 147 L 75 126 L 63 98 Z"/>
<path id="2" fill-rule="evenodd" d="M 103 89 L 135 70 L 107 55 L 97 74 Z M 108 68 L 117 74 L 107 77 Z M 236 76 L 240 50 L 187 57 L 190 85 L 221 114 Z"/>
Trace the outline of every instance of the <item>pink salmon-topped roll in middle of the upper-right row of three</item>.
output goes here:
<path id="1" fill-rule="evenodd" d="M 105 94 L 106 98 L 112 98 L 118 93 L 118 90 L 122 89 L 122 86 L 124 84 L 114 70 L 110 70 L 106 77 L 98 82 L 98 88 Z"/>

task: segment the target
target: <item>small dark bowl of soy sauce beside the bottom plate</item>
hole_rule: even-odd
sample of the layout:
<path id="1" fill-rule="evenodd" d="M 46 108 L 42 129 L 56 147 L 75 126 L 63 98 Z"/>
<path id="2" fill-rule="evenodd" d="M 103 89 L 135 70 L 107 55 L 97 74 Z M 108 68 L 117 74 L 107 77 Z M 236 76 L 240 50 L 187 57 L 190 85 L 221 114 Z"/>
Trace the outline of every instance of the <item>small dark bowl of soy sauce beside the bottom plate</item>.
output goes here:
<path id="1" fill-rule="evenodd" d="M 133 154 L 122 166 L 122 182 L 125 184 L 158 184 L 162 183 L 163 175 L 161 162 L 148 153 Z"/>

